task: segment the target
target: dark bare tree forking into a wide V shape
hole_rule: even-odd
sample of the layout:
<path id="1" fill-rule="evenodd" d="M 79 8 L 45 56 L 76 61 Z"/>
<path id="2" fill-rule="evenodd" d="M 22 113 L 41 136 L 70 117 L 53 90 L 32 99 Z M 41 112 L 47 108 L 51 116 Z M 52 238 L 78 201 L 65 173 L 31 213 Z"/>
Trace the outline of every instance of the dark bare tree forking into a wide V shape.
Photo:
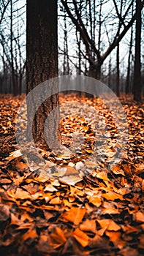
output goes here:
<path id="1" fill-rule="evenodd" d="M 77 1 L 61 0 L 61 3 L 63 4 L 65 10 L 67 11 L 69 18 L 72 20 L 72 23 L 74 23 L 74 25 L 76 26 L 77 31 L 80 32 L 80 37 L 83 40 L 83 44 L 86 47 L 86 58 L 88 59 L 88 62 L 91 65 L 91 68 L 94 70 L 95 78 L 99 78 L 100 69 L 102 67 L 103 62 L 105 61 L 105 59 L 107 59 L 107 56 L 110 55 L 110 53 L 115 49 L 115 47 L 118 46 L 119 42 L 121 42 L 121 39 L 124 38 L 127 31 L 129 31 L 129 29 L 132 27 L 132 24 L 134 23 L 134 20 L 137 17 L 137 10 L 136 10 L 132 18 L 130 18 L 129 20 L 127 19 L 127 17 L 129 17 L 129 12 L 132 9 L 133 1 L 131 1 L 129 4 L 126 4 L 126 9 L 123 15 L 121 15 L 121 12 L 117 11 L 119 26 L 117 31 L 113 35 L 113 40 L 110 42 L 110 45 L 108 45 L 107 49 L 105 49 L 103 53 L 99 49 L 99 44 L 96 47 L 96 42 L 94 42 L 94 40 L 91 38 L 91 31 L 90 33 L 88 33 L 86 24 L 84 23 L 84 20 L 80 15 L 80 10 L 78 9 Z M 71 4 L 71 7 L 70 7 L 70 4 Z M 101 1 L 101 4 L 102 4 L 102 1 Z M 143 4 L 141 2 L 140 10 L 142 8 L 143 8 Z M 100 20 L 100 23 L 102 24 L 102 20 Z M 99 34 L 99 37 L 100 37 L 100 34 Z M 94 54 L 92 52 L 94 52 Z"/>

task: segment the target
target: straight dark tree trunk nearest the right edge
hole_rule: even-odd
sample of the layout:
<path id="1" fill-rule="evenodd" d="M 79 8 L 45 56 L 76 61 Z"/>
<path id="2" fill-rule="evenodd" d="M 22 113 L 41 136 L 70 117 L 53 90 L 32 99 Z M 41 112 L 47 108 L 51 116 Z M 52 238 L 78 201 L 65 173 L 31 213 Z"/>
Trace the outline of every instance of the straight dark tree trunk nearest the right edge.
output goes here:
<path id="1" fill-rule="evenodd" d="M 135 31 L 135 59 L 134 59 L 134 80 L 133 80 L 133 94 L 134 100 L 140 101 L 142 83 L 141 83 L 141 63 L 140 63 L 140 42 L 141 42 L 141 1 L 136 1 L 137 19 Z"/>

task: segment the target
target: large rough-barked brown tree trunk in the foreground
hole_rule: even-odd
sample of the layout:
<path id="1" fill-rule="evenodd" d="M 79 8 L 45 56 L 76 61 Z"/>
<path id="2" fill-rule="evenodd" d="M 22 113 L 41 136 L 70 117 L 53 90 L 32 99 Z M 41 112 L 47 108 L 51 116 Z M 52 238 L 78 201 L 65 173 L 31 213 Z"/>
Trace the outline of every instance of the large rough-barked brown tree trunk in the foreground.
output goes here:
<path id="1" fill-rule="evenodd" d="M 57 47 L 57 1 L 27 0 L 26 24 L 26 86 L 27 94 L 40 83 L 58 76 Z M 57 84 L 55 83 L 57 90 Z M 50 83 L 48 90 L 51 90 Z M 39 95 L 34 95 L 34 101 Z M 45 120 L 58 106 L 58 94 L 45 100 L 37 110 L 33 121 L 34 143 L 45 146 Z M 28 104 L 28 121 L 34 102 Z M 34 111 L 34 109 L 33 109 Z M 52 120 L 54 118 L 54 120 Z M 58 108 L 49 120 L 47 136 L 50 148 L 56 146 L 56 138 L 60 138 L 58 127 Z M 29 129 L 28 129 L 29 130 Z M 31 132 L 31 131 L 30 131 Z M 29 135 L 29 132 L 28 132 Z"/>

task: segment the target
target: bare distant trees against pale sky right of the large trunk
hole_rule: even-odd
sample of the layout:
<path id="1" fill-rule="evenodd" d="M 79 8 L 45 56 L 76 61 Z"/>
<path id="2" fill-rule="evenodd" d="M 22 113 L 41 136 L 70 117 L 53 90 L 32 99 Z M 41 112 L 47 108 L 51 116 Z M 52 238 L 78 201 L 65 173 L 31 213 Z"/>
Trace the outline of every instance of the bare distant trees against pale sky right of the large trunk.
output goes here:
<path id="1" fill-rule="evenodd" d="M 72 73 L 73 65 L 78 74 L 102 80 L 118 96 L 123 91 L 139 100 L 144 90 L 144 2 L 61 0 L 59 4 L 60 20 L 64 19 L 62 29 L 67 34 L 64 47 L 59 49 L 61 56 L 64 54 L 61 74 Z M 71 53 L 74 44 L 69 43 L 72 26 L 75 26 L 75 56 Z M 123 48 L 126 53 L 121 57 Z"/>

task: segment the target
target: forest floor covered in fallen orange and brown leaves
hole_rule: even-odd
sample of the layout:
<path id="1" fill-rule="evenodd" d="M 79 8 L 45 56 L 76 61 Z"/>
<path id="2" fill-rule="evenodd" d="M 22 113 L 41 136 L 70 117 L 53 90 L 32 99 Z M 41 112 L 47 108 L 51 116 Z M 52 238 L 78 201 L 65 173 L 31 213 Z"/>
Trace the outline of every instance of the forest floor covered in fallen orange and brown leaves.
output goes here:
<path id="1" fill-rule="evenodd" d="M 144 255 L 144 104 L 121 96 L 123 141 L 101 99 L 61 95 L 61 138 L 73 153 L 39 148 L 44 170 L 15 140 L 23 97 L 0 97 L 0 255 Z"/>

